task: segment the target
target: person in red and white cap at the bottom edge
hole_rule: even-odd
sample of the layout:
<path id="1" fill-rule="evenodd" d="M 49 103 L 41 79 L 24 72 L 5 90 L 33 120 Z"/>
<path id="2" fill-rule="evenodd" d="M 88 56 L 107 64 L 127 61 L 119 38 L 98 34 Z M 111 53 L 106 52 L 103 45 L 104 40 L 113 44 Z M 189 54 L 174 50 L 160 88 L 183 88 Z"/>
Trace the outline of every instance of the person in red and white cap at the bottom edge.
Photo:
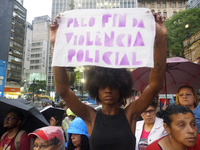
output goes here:
<path id="1" fill-rule="evenodd" d="M 47 126 L 29 133 L 31 150 L 65 150 L 63 131 L 57 126 Z"/>

